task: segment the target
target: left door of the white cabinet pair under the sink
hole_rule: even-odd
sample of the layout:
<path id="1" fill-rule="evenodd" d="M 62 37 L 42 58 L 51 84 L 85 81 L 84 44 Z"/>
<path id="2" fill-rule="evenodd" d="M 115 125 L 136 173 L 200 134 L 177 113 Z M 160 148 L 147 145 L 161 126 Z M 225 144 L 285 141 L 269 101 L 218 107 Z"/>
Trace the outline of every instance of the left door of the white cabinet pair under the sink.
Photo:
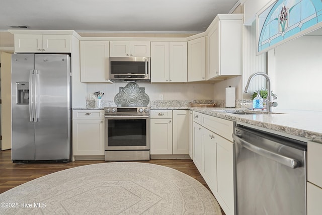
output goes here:
<path id="1" fill-rule="evenodd" d="M 204 129 L 203 135 L 202 177 L 205 179 L 212 193 L 214 193 L 217 185 L 215 134 L 208 129 Z"/>

